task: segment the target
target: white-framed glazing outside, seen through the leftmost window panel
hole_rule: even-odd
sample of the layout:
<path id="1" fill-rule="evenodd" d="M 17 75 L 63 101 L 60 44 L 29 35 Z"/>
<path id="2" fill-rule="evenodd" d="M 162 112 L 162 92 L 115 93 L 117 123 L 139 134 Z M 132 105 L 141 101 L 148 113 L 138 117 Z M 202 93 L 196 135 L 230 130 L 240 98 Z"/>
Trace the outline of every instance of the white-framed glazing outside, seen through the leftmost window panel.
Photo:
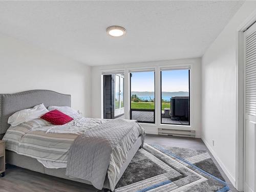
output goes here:
<path id="1" fill-rule="evenodd" d="M 115 117 L 124 114 L 123 76 L 115 75 Z"/>

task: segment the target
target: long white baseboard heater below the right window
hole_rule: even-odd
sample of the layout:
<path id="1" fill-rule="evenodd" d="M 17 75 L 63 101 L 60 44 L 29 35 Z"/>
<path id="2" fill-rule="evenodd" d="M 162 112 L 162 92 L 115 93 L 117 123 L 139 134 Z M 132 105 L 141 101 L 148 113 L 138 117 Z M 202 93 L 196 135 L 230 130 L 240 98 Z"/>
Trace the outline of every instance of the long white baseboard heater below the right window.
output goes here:
<path id="1" fill-rule="evenodd" d="M 179 137 L 196 137 L 196 131 L 190 130 L 170 130 L 158 128 L 158 135 L 172 135 Z"/>

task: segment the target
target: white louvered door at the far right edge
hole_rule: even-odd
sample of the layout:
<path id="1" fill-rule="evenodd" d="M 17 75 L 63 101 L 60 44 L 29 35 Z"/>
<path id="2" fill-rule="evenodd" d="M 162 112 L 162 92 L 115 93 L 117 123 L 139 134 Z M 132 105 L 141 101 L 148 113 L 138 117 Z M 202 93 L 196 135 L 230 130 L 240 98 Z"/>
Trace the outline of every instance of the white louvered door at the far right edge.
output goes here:
<path id="1" fill-rule="evenodd" d="M 256 192 L 256 24 L 245 32 L 244 191 Z"/>

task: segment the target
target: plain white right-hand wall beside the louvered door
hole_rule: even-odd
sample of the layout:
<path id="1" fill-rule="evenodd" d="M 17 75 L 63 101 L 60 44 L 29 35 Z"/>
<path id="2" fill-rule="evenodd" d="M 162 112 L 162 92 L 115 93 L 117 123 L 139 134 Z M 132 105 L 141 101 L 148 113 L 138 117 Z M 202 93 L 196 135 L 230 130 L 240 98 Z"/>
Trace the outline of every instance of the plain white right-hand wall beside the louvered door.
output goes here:
<path id="1" fill-rule="evenodd" d="M 202 139 L 233 184 L 236 180 L 236 31 L 255 9 L 256 2 L 245 2 L 202 57 Z"/>

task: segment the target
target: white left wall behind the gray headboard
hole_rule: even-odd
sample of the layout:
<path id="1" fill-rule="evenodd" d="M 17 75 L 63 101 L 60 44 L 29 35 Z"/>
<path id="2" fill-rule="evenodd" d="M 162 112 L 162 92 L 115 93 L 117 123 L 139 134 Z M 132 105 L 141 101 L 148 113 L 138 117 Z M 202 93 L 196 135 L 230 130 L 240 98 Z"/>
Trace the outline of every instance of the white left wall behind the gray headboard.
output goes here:
<path id="1" fill-rule="evenodd" d="M 71 94 L 72 107 L 91 115 L 91 67 L 0 34 L 0 93 L 47 89 Z"/>

